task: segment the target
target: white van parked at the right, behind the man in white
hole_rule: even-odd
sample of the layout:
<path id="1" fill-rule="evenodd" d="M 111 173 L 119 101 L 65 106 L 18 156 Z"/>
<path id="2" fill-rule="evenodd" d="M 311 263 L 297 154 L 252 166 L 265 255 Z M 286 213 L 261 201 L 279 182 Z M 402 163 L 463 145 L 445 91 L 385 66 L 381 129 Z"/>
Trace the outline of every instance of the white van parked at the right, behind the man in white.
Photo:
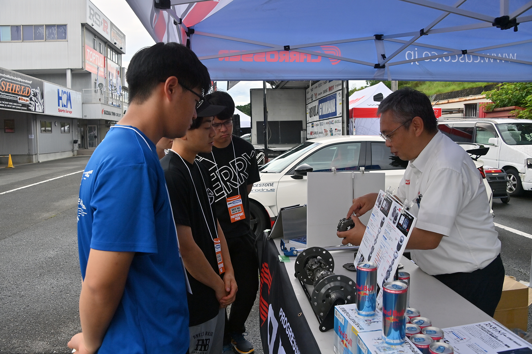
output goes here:
<path id="1" fill-rule="evenodd" d="M 457 143 L 489 147 L 484 167 L 508 174 L 508 194 L 532 190 L 532 120 L 515 118 L 440 118 L 439 130 Z"/>

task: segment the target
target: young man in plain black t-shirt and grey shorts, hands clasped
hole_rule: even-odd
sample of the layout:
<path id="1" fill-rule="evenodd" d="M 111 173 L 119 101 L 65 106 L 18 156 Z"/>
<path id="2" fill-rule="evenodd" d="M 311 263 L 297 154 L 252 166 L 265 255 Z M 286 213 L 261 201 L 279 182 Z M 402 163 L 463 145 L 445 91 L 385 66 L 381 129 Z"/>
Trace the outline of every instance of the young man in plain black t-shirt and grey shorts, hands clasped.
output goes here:
<path id="1" fill-rule="evenodd" d="M 190 354 L 221 352 L 225 307 L 234 301 L 237 291 L 226 239 L 212 205 L 209 172 L 195 162 L 197 153 L 212 149 L 212 119 L 196 118 L 187 134 L 174 139 L 172 149 L 161 159 L 192 290 L 187 294 Z"/>

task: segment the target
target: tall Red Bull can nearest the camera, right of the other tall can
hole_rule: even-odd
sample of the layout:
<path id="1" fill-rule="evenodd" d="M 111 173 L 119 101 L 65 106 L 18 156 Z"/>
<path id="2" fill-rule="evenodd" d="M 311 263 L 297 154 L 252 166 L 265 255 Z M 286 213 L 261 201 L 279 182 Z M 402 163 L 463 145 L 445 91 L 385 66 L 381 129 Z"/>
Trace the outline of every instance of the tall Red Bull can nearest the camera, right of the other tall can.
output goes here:
<path id="1" fill-rule="evenodd" d="M 401 281 L 383 284 L 383 340 L 390 346 L 405 340 L 406 290 L 408 286 Z"/>

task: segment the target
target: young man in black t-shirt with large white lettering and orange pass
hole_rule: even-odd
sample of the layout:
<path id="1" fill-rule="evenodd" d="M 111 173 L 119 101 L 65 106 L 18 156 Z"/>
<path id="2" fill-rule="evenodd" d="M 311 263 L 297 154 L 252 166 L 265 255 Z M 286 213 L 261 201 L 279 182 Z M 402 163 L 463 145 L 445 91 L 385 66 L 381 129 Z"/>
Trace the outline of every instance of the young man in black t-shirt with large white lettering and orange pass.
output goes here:
<path id="1" fill-rule="evenodd" d="M 238 293 L 226 319 L 223 353 L 234 349 L 243 354 L 254 351 L 253 344 L 244 338 L 245 322 L 259 289 L 259 265 L 250 227 L 250 200 L 253 183 L 260 180 L 253 145 L 232 135 L 232 115 L 235 102 L 227 92 L 215 91 L 206 95 L 212 105 L 227 108 L 214 117 L 216 131 L 212 153 L 200 153 L 200 161 L 209 169 L 218 220 L 227 239 L 231 259 L 234 260 Z"/>

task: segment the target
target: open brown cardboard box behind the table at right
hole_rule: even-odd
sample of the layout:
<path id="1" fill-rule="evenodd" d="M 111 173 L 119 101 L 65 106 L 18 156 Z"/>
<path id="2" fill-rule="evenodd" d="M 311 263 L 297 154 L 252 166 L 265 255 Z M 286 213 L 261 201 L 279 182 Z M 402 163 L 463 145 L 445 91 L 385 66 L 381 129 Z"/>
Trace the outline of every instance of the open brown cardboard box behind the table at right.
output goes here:
<path id="1" fill-rule="evenodd" d="M 526 332 L 530 304 L 529 290 L 532 289 L 505 275 L 501 300 L 493 318 L 509 329 L 519 328 Z"/>

